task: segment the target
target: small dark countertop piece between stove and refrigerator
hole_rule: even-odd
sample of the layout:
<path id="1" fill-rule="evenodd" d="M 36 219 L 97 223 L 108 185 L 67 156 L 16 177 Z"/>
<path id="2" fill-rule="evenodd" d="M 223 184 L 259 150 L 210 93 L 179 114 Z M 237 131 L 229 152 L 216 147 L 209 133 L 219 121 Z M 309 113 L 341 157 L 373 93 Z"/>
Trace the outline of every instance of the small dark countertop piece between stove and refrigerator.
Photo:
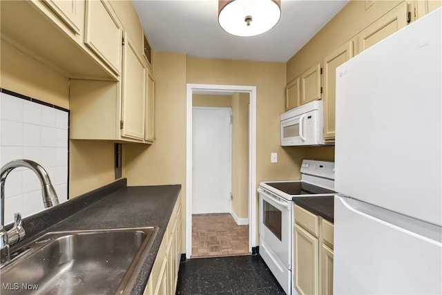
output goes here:
<path id="1" fill-rule="evenodd" d="M 321 216 L 333 223 L 334 196 L 326 197 L 293 197 L 291 200 L 300 207 Z"/>

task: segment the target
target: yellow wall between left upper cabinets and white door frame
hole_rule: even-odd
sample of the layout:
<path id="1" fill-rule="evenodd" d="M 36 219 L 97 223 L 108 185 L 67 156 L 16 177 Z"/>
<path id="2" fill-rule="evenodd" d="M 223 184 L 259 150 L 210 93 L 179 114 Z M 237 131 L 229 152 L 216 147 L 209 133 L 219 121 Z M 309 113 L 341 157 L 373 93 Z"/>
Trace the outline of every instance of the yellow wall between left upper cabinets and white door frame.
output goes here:
<path id="1" fill-rule="evenodd" d="M 153 66 L 155 142 L 124 144 L 123 175 L 128 185 L 182 184 L 185 205 L 186 55 L 154 52 Z"/>

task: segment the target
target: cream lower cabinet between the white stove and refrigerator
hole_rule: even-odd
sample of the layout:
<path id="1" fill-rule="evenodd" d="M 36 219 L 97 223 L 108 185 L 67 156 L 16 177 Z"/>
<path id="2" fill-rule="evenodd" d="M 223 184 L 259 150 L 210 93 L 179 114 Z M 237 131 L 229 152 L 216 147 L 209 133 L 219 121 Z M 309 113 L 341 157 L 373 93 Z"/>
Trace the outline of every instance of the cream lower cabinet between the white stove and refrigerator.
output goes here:
<path id="1" fill-rule="evenodd" d="M 294 205 L 294 276 L 300 295 L 333 293 L 333 225 Z"/>

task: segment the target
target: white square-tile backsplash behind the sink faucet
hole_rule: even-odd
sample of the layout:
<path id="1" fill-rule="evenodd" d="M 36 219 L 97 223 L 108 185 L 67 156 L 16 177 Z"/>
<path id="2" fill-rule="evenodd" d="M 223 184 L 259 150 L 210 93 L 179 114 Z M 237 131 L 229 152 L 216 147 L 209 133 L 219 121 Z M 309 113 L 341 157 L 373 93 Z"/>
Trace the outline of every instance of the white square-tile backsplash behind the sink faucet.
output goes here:
<path id="1" fill-rule="evenodd" d="M 0 92 L 0 165 L 33 160 L 46 169 L 60 202 L 68 199 L 67 111 Z M 27 168 L 12 170 L 5 183 L 5 223 L 44 209 L 41 184 Z"/>

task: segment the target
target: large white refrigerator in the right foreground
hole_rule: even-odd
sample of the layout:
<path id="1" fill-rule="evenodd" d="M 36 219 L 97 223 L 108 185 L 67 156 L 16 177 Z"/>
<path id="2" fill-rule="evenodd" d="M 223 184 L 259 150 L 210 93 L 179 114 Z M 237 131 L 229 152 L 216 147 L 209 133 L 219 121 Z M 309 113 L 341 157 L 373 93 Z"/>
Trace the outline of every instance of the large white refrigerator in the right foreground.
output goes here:
<path id="1" fill-rule="evenodd" d="M 441 19 L 336 70 L 334 294 L 442 294 Z"/>

